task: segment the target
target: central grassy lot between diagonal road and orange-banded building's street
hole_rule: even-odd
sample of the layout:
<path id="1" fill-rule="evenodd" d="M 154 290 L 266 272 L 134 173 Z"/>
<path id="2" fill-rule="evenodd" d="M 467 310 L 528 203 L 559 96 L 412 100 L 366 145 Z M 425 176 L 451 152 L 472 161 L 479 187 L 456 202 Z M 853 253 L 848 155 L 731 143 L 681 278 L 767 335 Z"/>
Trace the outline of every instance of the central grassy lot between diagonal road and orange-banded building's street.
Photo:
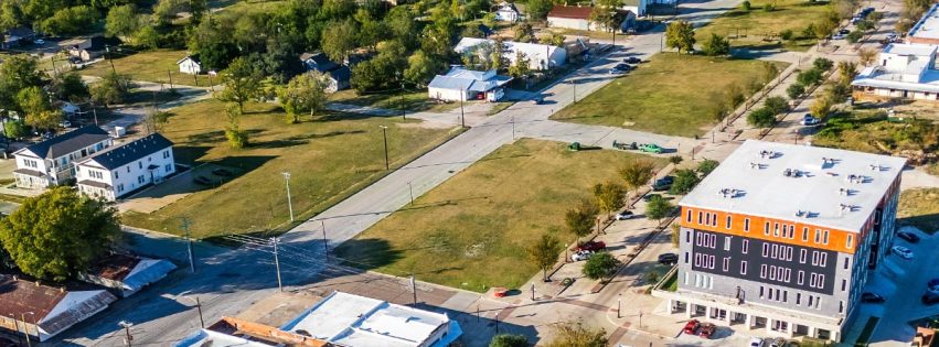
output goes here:
<path id="1" fill-rule="evenodd" d="M 565 144 L 520 140 L 383 219 L 337 250 L 354 265 L 485 291 L 519 288 L 537 271 L 525 249 L 543 234 L 574 237 L 564 213 L 591 185 L 617 180 L 616 151 L 568 152 Z M 658 161 L 663 164 L 662 161 Z"/>

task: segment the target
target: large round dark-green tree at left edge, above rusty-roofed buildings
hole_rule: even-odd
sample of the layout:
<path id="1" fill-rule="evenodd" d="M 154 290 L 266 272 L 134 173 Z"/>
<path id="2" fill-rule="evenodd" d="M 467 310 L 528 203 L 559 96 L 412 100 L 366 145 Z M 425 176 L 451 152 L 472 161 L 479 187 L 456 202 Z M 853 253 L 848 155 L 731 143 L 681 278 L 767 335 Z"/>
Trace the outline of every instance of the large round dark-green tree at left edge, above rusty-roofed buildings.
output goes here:
<path id="1" fill-rule="evenodd" d="M 66 186 L 26 198 L 0 221 L 0 243 L 17 267 L 54 281 L 87 269 L 119 234 L 116 208 Z"/>

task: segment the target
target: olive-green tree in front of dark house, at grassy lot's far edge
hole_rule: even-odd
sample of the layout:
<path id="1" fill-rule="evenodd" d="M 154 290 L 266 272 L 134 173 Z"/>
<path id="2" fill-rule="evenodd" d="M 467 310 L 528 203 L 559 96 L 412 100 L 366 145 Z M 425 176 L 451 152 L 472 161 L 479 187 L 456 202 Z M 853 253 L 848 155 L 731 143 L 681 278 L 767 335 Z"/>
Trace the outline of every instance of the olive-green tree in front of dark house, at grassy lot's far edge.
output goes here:
<path id="1" fill-rule="evenodd" d="M 281 87 L 278 97 L 291 122 L 300 122 L 300 115 L 310 113 L 310 117 L 313 117 L 316 112 L 323 110 L 329 98 L 327 87 L 329 79 L 317 71 L 297 75 L 286 87 Z"/>

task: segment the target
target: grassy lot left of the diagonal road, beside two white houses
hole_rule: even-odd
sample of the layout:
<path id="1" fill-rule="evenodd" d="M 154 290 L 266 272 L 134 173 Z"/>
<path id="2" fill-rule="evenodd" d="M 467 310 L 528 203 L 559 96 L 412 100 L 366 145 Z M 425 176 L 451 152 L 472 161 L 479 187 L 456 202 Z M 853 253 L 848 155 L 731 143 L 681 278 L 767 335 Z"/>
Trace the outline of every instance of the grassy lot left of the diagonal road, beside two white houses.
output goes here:
<path id="1" fill-rule="evenodd" d="M 232 150 L 224 134 L 224 105 L 195 102 L 172 110 L 162 133 L 175 142 L 177 160 L 212 162 L 233 167 L 236 177 L 220 187 L 196 192 L 152 214 L 129 213 L 124 223 L 158 231 L 179 232 L 180 217 L 192 219 L 193 236 L 284 229 L 288 221 L 281 172 L 289 171 L 297 220 L 303 220 L 387 172 L 382 131 L 388 126 L 392 167 L 401 166 L 455 134 L 424 129 L 418 121 L 328 115 L 288 124 L 275 105 L 248 105 L 241 128 L 250 147 Z M 306 119 L 305 119 L 306 120 Z"/>

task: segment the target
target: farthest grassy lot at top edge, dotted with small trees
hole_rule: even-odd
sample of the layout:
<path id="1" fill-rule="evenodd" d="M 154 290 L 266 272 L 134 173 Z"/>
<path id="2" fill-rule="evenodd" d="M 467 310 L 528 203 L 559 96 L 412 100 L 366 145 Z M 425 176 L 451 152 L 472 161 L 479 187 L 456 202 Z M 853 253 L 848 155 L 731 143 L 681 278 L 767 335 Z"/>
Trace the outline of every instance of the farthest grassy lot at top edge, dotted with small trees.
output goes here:
<path id="1" fill-rule="evenodd" d="M 819 22 L 828 10 L 826 1 L 810 2 L 807 0 L 751 0 L 753 8 L 744 11 L 740 8 L 727 11 L 696 31 L 697 42 L 704 42 L 712 33 L 732 37 L 733 46 L 751 48 L 772 47 L 779 42 L 779 33 L 791 30 L 799 40 L 785 41 L 782 47 L 793 51 L 805 51 L 817 40 L 802 37 L 802 31 L 809 24 Z M 766 11 L 766 4 L 776 4 L 776 10 Z M 769 40 L 769 41 L 765 41 Z"/>

